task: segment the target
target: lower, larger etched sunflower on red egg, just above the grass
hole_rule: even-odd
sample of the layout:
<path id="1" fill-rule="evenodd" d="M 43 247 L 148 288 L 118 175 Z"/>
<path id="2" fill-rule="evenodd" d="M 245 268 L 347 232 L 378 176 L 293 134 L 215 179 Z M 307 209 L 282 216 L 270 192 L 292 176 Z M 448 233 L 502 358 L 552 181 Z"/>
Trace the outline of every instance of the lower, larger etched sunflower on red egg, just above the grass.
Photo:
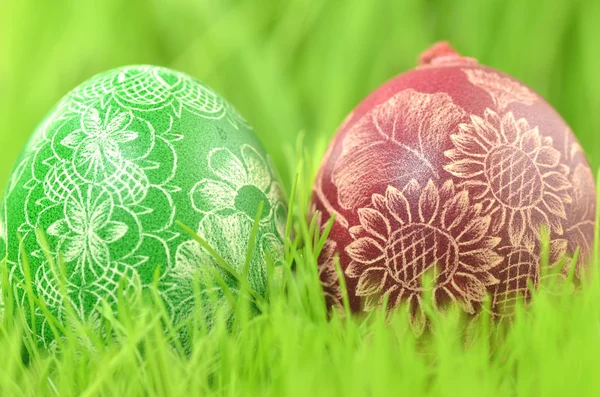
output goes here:
<path id="1" fill-rule="evenodd" d="M 389 294 L 392 306 L 410 304 L 411 323 L 422 331 L 421 292 L 429 290 L 436 306 L 456 301 L 475 313 L 473 304 L 499 282 L 491 270 L 502 261 L 495 250 L 501 239 L 489 236 L 491 217 L 482 205 L 469 191 L 457 192 L 451 180 L 438 189 L 432 180 L 422 187 L 413 179 L 371 201 L 358 210 L 360 225 L 350 228 L 354 241 L 346 247 L 351 262 L 345 273 L 357 279 L 363 310 Z M 433 272 L 431 285 L 421 283 L 426 272 Z"/>

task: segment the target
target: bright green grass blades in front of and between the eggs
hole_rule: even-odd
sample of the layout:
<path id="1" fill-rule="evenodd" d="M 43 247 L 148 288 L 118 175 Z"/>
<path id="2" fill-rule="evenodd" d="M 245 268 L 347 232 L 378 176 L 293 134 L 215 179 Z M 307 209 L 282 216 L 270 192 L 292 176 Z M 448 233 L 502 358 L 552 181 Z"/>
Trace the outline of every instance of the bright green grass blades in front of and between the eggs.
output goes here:
<path id="1" fill-rule="evenodd" d="M 45 352 L 23 332 L 27 314 L 15 305 L 3 272 L 0 394 L 586 396 L 598 390 L 598 246 L 590 279 L 575 294 L 561 285 L 542 288 L 502 329 L 485 315 L 475 321 L 458 310 L 431 315 L 431 332 L 416 338 L 406 308 L 360 318 L 327 313 L 316 270 L 324 240 L 305 221 L 306 182 L 297 184 L 290 217 L 296 237 L 287 241 L 283 280 L 271 280 L 262 313 L 248 315 L 252 297 L 244 292 L 233 323 L 218 316 L 207 327 L 198 310 L 184 329 L 186 347 L 150 291 L 134 304 L 123 297 L 116 312 L 101 308 L 99 323 L 73 315 L 58 349 Z"/>

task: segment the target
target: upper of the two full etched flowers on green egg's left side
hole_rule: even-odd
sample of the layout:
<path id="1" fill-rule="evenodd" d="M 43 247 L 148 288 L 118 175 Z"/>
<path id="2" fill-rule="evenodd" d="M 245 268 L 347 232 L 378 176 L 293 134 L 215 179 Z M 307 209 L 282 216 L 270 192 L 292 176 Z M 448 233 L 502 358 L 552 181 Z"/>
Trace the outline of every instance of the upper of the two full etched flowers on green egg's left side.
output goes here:
<path id="1" fill-rule="evenodd" d="M 81 128 L 71 132 L 61 144 L 74 149 L 73 166 L 85 180 L 101 181 L 116 173 L 123 158 L 119 144 L 133 141 L 138 134 L 128 131 L 133 115 L 130 111 L 112 111 L 106 113 L 89 107 L 81 116 Z"/>

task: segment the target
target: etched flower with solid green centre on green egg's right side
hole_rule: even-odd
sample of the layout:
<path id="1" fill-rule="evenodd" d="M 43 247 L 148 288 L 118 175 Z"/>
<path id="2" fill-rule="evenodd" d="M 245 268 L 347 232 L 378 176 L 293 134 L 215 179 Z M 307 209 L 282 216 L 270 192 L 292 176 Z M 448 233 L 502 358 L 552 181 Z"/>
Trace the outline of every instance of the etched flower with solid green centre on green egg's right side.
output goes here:
<path id="1" fill-rule="evenodd" d="M 208 167 L 219 180 L 203 179 L 192 188 L 194 209 L 204 213 L 239 213 L 254 220 L 263 202 L 261 224 L 275 218 L 278 232 L 283 236 L 285 207 L 280 200 L 279 184 L 256 149 L 243 145 L 241 153 L 241 159 L 225 148 L 209 153 Z"/>

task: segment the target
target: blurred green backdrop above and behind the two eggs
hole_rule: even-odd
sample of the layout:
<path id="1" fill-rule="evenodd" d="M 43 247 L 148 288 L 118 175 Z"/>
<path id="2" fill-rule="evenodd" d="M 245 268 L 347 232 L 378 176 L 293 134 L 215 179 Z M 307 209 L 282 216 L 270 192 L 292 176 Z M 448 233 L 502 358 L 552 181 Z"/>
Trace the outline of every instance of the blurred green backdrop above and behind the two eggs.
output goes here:
<path id="1" fill-rule="evenodd" d="M 36 124 L 93 74 L 179 69 L 251 122 L 289 186 L 282 147 L 321 156 L 344 116 L 437 40 L 521 79 L 600 166 L 597 0 L 2 0 L 0 186 Z"/>

